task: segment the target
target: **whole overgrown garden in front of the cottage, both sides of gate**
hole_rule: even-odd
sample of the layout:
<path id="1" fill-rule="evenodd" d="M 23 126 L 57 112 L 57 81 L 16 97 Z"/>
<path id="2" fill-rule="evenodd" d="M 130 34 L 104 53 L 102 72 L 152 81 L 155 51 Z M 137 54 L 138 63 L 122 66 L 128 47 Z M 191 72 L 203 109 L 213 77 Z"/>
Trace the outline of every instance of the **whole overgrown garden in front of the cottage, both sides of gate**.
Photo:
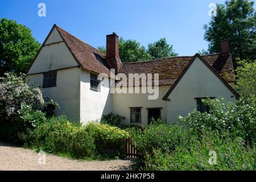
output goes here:
<path id="1" fill-rule="evenodd" d="M 247 82 L 255 63 L 245 63 L 237 73 L 241 98 L 236 102 L 205 99 L 208 113 L 195 110 L 144 128 L 123 126 L 123 117 L 114 114 L 85 126 L 65 115 L 49 117 L 47 105 L 58 105 L 28 86 L 24 75 L 6 73 L 0 82 L 0 139 L 73 159 L 108 160 L 125 158 L 123 141 L 131 137 L 139 151 L 138 169 L 255 170 L 255 79 Z"/>

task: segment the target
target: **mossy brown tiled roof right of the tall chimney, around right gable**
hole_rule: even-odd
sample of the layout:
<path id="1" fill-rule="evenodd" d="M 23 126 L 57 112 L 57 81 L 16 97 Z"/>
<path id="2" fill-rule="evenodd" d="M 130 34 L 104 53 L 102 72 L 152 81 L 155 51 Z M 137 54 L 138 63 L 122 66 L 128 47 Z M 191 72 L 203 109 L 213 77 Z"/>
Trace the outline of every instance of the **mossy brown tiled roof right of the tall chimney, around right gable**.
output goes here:
<path id="1" fill-rule="evenodd" d="M 211 65 L 228 83 L 234 82 L 234 68 L 231 56 L 203 55 Z M 177 78 L 187 67 L 193 56 L 177 56 L 165 59 L 123 63 L 120 73 L 159 73 L 159 85 L 173 85 Z"/>

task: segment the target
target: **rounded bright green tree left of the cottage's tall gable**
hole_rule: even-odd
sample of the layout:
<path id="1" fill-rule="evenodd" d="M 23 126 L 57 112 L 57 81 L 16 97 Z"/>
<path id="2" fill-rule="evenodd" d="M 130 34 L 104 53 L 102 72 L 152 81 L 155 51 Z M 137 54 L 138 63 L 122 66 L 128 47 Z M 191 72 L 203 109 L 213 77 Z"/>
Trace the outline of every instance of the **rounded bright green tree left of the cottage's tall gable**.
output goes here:
<path id="1" fill-rule="evenodd" d="M 29 28 L 15 20 L 0 19 L 0 76 L 26 73 L 39 48 Z"/>

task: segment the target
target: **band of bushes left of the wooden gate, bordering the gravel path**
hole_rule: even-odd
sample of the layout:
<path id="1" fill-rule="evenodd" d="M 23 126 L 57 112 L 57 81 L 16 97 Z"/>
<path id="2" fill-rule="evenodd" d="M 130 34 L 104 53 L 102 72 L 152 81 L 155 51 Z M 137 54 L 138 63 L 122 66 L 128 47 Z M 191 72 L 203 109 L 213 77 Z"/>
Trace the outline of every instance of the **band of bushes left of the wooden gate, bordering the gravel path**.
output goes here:
<path id="1" fill-rule="evenodd" d="M 64 116 L 47 118 L 41 90 L 28 86 L 23 75 L 1 78 L 0 101 L 1 139 L 73 158 L 123 157 L 125 130 L 98 122 L 82 126 Z M 50 100 L 50 104 L 55 103 Z M 110 123 L 118 123 L 118 118 L 114 115 Z"/>

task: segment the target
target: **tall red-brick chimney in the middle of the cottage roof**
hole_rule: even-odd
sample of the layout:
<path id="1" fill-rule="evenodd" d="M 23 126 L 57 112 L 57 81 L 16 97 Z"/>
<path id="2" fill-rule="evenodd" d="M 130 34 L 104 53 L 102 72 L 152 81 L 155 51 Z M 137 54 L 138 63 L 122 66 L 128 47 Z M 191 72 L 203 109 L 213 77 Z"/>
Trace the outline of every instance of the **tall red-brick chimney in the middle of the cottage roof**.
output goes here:
<path id="1" fill-rule="evenodd" d="M 111 68 L 118 72 L 121 67 L 121 60 L 118 52 L 118 35 L 114 32 L 110 35 L 106 35 L 106 62 Z"/>

